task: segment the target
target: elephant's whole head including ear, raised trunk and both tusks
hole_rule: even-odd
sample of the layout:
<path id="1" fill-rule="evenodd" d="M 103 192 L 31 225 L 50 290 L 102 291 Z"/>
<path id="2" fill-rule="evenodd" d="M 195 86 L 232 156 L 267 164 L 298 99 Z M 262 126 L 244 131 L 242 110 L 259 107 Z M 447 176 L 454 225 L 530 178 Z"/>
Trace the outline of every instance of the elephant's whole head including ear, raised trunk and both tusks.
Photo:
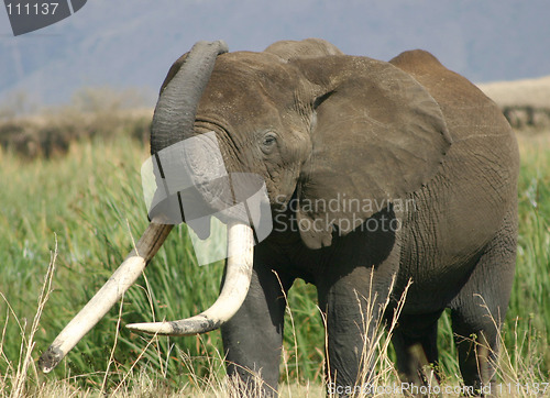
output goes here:
<path id="1" fill-rule="evenodd" d="M 376 211 L 348 209 L 341 203 L 345 198 L 372 203 L 404 198 L 433 177 L 450 145 L 438 103 L 410 75 L 388 63 L 342 55 L 319 40 L 279 42 L 262 53 L 226 53 L 220 42 L 199 43 L 180 57 L 161 89 L 152 154 L 212 131 L 227 170 L 261 176 L 274 212 L 296 200 L 299 236 L 312 250 Z M 205 156 L 193 167 L 208 176 L 212 166 Z M 216 184 L 200 191 L 210 203 L 219 194 Z M 177 199 L 167 198 L 168 207 L 169 200 Z M 163 223 L 162 208 L 150 214 L 150 226 L 119 270 L 43 355 L 43 369 L 53 368 L 99 321 L 162 245 L 172 228 Z M 129 327 L 195 334 L 231 318 L 246 296 L 253 259 L 253 229 L 241 221 L 227 221 L 226 283 L 209 310 Z"/>

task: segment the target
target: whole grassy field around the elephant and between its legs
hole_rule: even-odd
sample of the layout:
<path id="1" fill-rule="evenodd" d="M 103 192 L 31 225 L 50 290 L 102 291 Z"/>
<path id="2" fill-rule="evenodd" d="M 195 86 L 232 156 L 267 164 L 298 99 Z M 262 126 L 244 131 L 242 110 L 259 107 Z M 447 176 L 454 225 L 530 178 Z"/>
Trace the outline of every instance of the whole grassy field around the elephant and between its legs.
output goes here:
<path id="1" fill-rule="evenodd" d="M 147 148 L 130 136 L 121 131 L 108 140 L 84 140 L 72 144 L 65 156 L 50 159 L 25 161 L 0 152 L 0 397 L 106 391 L 223 397 L 231 389 L 219 331 L 150 339 L 123 328 L 195 314 L 215 301 L 222 267 L 196 264 L 185 226 L 170 234 L 123 306 L 112 309 L 55 372 L 37 371 L 36 358 L 111 275 L 147 223 L 139 175 Z M 550 380 L 550 132 L 519 134 L 519 142 L 517 277 L 498 377 L 532 386 Z M 315 297 L 315 288 L 302 283 L 288 297 L 292 317 L 286 317 L 280 387 L 286 396 L 324 394 L 324 332 Z M 441 368 L 448 375 L 443 383 L 458 385 L 447 316 L 440 327 Z M 382 338 L 381 384 L 397 380 L 386 345 Z"/>

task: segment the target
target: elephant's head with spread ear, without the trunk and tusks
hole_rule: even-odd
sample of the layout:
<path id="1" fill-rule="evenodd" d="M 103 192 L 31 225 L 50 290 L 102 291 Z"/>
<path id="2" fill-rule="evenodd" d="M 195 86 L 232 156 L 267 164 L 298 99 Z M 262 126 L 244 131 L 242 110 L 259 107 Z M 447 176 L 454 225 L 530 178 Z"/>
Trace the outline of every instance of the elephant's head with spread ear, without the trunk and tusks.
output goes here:
<path id="1" fill-rule="evenodd" d="M 375 212 L 329 203 L 404 198 L 435 175 L 451 141 L 439 104 L 410 75 L 318 40 L 219 56 L 189 130 L 208 131 L 230 172 L 262 176 L 274 211 L 296 198 L 310 248 Z"/>

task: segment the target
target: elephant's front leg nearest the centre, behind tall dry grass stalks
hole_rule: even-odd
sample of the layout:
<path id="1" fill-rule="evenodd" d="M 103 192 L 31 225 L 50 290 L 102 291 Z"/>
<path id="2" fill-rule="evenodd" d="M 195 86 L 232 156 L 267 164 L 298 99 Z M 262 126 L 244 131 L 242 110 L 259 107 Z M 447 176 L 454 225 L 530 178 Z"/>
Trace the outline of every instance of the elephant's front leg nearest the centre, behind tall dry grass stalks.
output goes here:
<path id="1" fill-rule="evenodd" d="M 327 382 L 329 391 L 333 387 L 345 391 L 371 382 L 377 353 L 376 325 L 392 277 L 381 280 L 374 268 L 356 267 L 328 279 L 331 281 L 318 286 L 327 322 Z"/>

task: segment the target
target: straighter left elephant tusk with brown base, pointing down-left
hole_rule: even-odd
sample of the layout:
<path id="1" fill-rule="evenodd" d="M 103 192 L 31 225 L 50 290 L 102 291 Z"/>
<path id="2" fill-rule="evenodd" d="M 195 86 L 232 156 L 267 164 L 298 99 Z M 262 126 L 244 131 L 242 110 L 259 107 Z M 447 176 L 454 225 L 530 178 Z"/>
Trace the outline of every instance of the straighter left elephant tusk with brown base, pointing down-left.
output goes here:
<path id="1" fill-rule="evenodd" d="M 156 223 L 154 220 L 148 224 L 135 248 L 42 354 L 38 360 L 42 372 L 48 373 L 57 366 L 76 343 L 120 300 L 162 246 L 172 228 L 173 225 Z"/>

